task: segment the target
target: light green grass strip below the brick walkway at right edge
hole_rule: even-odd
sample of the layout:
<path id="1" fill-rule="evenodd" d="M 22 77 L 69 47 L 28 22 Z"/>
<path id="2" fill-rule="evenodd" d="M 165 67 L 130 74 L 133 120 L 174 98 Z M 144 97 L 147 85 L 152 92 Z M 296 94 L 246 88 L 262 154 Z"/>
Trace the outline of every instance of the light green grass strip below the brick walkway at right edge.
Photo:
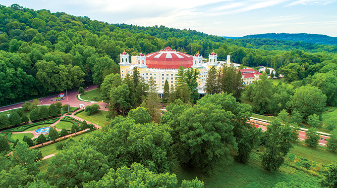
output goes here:
<path id="1" fill-rule="evenodd" d="M 324 165 L 337 160 L 337 153 L 329 151 L 325 147 L 309 147 L 300 141 L 294 142 L 294 148 L 290 150 L 290 153 Z"/>

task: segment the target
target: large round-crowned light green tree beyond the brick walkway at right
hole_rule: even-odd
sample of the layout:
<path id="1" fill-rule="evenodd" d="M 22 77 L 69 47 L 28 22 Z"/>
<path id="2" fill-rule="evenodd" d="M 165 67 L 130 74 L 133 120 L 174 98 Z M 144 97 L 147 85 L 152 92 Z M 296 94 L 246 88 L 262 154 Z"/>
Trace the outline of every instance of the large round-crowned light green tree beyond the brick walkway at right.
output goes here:
<path id="1" fill-rule="evenodd" d="M 326 95 L 317 87 L 302 86 L 295 90 L 291 109 L 303 114 L 303 118 L 314 113 L 320 116 L 325 110 L 326 100 Z"/>

